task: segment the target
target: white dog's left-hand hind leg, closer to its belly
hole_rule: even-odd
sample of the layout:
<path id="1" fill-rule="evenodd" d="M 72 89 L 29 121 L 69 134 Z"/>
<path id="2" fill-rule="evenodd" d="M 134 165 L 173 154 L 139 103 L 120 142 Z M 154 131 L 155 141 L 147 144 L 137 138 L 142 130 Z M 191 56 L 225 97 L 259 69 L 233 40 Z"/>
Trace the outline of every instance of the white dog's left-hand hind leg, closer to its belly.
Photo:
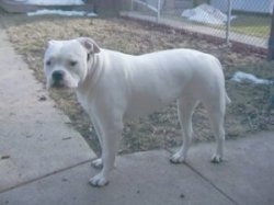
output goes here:
<path id="1" fill-rule="evenodd" d="M 193 98 L 178 100 L 178 115 L 182 127 L 183 145 L 170 159 L 172 163 L 182 163 L 186 160 L 187 150 L 193 135 L 192 115 L 198 104 Z"/>

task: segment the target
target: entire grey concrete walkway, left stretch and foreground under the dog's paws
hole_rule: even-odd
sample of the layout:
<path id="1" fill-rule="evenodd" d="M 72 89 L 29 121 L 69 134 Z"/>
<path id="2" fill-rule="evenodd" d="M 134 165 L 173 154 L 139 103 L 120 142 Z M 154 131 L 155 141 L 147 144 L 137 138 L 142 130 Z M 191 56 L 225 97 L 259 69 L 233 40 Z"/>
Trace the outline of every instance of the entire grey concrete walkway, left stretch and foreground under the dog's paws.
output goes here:
<path id="1" fill-rule="evenodd" d="M 0 32 L 1 205 L 274 204 L 274 134 L 227 141 L 226 160 L 209 162 L 213 144 L 194 145 L 186 164 L 170 151 L 117 158 L 106 187 L 88 185 L 94 153 Z"/>

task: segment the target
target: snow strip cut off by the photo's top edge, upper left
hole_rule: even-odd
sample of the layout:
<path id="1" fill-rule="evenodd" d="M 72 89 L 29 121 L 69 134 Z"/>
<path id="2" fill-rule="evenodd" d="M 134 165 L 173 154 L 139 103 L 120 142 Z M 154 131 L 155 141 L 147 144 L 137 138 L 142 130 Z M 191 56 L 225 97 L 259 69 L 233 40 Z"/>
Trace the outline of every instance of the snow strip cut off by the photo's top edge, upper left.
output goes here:
<path id="1" fill-rule="evenodd" d="M 16 0 L 26 4 L 35 5 L 82 5 L 82 0 Z"/>

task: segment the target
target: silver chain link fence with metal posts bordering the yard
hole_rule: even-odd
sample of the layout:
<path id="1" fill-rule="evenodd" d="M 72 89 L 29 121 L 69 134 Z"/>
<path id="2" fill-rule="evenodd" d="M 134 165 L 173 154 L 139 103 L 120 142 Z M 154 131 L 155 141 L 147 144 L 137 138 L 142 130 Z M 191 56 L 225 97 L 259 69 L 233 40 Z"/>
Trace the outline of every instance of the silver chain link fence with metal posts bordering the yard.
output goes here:
<path id="1" fill-rule="evenodd" d="M 124 0 L 125 4 L 127 14 L 137 19 L 267 48 L 274 0 Z"/>

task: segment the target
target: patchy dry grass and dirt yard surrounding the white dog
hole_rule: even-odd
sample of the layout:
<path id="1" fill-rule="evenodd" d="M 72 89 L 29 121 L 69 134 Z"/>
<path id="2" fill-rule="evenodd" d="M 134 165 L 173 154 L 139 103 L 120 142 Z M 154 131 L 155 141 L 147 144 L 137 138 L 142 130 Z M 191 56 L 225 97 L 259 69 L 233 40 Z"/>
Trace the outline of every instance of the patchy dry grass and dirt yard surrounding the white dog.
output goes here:
<path id="1" fill-rule="evenodd" d="M 270 86 L 240 84 L 230 81 L 237 70 L 251 72 L 260 78 L 273 78 L 274 64 L 265 61 L 260 55 L 248 50 L 233 53 L 229 48 L 221 48 L 189 34 L 123 19 L 50 16 L 32 20 L 25 18 L 24 21 L 20 21 L 20 15 L 13 18 L 13 21 L 5 21 L 10 41 L 42 82 L 44 82 L 42 59 L 49 39 L 90 36 L 101 47 L 128 54 L 144 54 L 175 47 L 195 48 L 215 55 L 224 65 L 227 91 L 232 100 L 232 104 L 227 109 L 227 137 L 236 138 L 252 132 L 274 129 L 273 114 L 265 112 L 270 102 Z M 99 152 L 94 129 L 91 128 L 88 116 L 77 103 L 75 94 L 71 91 L 50 91 L 50 95 L 90 146 Z M 213 139 L 206 112 L 202 106 L 194 114 L 193 125 L 194 141 Z M 181 130 L 175 103 L 173 103 L 162 112 L 128 122 L 124 129 L 119 152 L 173 147 L 181 143 Z"/>

